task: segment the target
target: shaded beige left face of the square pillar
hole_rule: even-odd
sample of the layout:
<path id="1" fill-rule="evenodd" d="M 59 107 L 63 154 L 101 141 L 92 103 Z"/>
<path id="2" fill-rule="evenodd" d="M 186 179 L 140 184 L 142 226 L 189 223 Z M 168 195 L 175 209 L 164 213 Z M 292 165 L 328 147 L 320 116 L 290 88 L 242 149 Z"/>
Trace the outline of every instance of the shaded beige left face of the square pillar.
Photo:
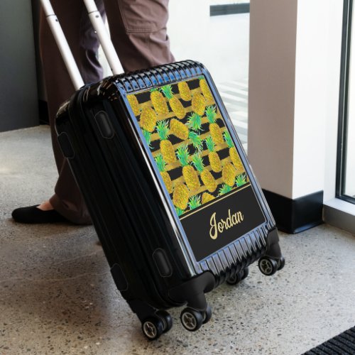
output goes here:
<path id="1" fill-rule="evenodd" d="M 251 0 L 248 155 L 261 187 L 292 198 L 296 0 Z"/>

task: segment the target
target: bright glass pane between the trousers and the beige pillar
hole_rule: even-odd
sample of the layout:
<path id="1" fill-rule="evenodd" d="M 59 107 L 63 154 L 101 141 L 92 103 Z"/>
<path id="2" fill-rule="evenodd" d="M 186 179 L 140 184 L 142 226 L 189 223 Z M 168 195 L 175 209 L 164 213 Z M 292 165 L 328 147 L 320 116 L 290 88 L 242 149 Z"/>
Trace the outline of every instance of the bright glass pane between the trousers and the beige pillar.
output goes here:
<path id="1" fill-rule="evenodd" d="M 175 59 L 207 67 L 247 148 L 249 0 L 170 0 L 169 13 Z"/>

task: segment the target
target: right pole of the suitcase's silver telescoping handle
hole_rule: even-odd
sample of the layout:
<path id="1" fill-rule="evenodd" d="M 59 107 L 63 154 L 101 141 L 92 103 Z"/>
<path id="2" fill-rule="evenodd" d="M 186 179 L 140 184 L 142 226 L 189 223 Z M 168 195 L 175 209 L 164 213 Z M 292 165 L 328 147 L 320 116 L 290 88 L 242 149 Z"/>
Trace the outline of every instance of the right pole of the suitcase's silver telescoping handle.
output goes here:
<path id="1" fill-rule="evenodd" d="M 121 74 L 121 63 L 119 61 L 119 57 L 116 53 L 116 50 L 114 49 L 114 45 L 111 41 L 109 33 L 107 32 L 107 28 L 104 25 L 104 20 L 102 19 L 102 16 L 97 9 L 95 1 L 84 0 L 84 4 L 87 8 L 87 13 L 89 14 L 92 27 L 94 27 L 94 30 L 97 32 L 99 43 L 102 45 L 102 49 L 104 50 L 112 73 L 114 75 Z"/>

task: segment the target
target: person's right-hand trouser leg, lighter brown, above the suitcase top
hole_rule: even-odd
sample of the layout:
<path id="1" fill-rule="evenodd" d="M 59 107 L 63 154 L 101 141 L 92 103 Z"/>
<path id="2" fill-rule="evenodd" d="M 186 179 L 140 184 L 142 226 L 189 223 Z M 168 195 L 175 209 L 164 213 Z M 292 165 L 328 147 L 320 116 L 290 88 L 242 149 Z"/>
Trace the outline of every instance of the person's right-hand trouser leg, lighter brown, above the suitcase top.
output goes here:
<path id="1" fill-rule="evenodd" d="M 168 0 L 104 0 L 112 42 L 125 72 L 173 62 Z"/>

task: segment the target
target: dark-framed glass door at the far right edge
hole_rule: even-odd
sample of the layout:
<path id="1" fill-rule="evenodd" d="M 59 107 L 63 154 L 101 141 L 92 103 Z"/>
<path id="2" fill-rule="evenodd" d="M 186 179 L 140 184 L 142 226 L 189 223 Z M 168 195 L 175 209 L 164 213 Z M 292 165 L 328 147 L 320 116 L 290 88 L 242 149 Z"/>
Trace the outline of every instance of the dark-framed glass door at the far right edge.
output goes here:
<path id="1" fill-rule="evenodd" d="M 344 1 L 337 197 L 355 204 L 355 33 L 353 0 Z"/>

